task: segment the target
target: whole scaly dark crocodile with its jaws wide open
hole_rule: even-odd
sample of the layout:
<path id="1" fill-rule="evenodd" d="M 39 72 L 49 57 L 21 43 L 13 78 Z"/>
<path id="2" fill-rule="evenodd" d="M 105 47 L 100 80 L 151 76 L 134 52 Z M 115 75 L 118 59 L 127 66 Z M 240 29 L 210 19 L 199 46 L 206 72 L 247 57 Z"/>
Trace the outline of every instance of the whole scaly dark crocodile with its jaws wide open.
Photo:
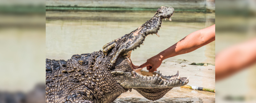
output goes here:
<path id="1" fill-rule="evenodd" d="M 149 34 L 157 34 L 162 19 L 169 19 L 172 7 L 162 6 L 155 15 L 129 34 L 103 46 L 103 50 L 76 54 L 71 59 L 46 59 L 46 103 L 111 103 L 122 93 L 135 89 L 149 100 L 162 98 L 174 87 L 189 80 L 163 76 L 137 69 L 131 61 L 132 50 L 144 45 Z"/>

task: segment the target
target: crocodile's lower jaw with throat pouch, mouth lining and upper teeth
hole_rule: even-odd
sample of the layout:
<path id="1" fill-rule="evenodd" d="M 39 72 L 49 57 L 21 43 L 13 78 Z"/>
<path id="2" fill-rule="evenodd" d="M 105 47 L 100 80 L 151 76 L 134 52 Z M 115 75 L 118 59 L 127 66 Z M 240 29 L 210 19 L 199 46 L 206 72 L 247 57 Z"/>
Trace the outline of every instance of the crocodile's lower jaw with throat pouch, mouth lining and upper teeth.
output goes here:
<path id="1" fill-rule="evenodd" d="M 170 18 L 169 20 L 171 21 Z M 158 32 L 155 34 L 159 37 Z M 145 40 L 145 37 L 148 35 L 149 34 L 143 36 L 144 38 L 142 40 Z M 132 48 L 132 50 L 140 47 L 140 45 L 144 45 L 143 42 L 138 43 Z M 151 73 L 148 70 L 142 70 L 142 68 L 137 68 L 137 66 L 135 66 L 131 60 L 132 50 L 122 53 L 122 55 L 126 57 L 126 60 L 128 61 L 132 71 L 111 72 L 112 76 L 118 77 L 115 79 L 120 83 L 122 87 L 130 88 L 130 90 L 133 88 L 145 98 L 154 101 L 162 98 L 172 88 L 184 86 L 189 82 L 189 77 L 180 77 L 179 71 L 177 71 L 175 75 L 164 76 L 162 75 L 162 73 L 160 73 L 160 71 L 154 71 L 153 73 Z M 119 76 L 122 76 L 122 78 L 120 78 Z"/>

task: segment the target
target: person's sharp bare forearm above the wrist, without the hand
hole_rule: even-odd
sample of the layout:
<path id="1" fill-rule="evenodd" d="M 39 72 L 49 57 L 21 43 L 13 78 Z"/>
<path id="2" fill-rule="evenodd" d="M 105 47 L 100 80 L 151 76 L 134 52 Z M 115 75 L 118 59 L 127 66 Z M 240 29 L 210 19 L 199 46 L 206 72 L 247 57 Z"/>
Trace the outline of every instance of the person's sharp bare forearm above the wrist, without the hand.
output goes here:
<path id="1" fill-rule="evenodd" d="M 179 42 L 160 52 L 156 56 L 163 61 L 169 57 L 192 52 L 215 40 L 215 25 L 187 35 Z"/>

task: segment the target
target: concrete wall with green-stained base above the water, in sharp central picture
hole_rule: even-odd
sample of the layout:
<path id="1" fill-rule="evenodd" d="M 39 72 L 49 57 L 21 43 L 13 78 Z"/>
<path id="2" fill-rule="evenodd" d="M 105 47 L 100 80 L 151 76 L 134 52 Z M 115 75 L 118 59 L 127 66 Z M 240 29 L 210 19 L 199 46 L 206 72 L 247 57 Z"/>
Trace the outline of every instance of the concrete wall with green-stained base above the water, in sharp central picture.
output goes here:
<path id="1" fill-rule="evenodd" d="M 46 0 L 46 6 L 159 8 L 171 6 L 181 10 L 215 10 L 215 0 Z"/>

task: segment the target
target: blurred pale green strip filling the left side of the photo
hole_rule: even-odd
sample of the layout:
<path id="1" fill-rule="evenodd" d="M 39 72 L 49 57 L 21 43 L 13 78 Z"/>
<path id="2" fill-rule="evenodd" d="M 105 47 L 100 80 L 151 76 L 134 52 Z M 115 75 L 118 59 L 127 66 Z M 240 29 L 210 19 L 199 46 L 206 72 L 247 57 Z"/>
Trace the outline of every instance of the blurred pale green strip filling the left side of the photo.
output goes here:
<path id="1" fill-rule="evenodd" d="M 45 102 L 45 1 L 0 1 L 0 103 Z"/>

